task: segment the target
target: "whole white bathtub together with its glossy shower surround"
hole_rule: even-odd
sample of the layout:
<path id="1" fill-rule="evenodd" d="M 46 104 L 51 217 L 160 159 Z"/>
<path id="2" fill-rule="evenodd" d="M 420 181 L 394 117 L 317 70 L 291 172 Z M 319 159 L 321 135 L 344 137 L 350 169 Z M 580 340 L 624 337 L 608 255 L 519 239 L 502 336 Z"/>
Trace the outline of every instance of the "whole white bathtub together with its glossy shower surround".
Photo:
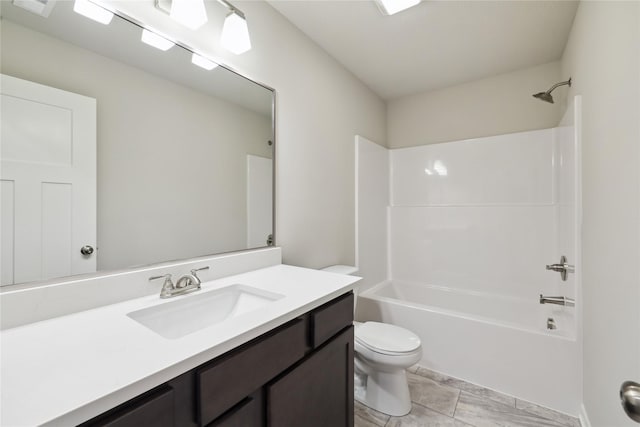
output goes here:
<path id="1" fill-rule="evenodd" d="M 359 320 L 415 332 L 429 369 L 577 415 L 576 309 L 539 304 L 576 297 L 575 275 L 545 268 L 576 262 L 575 141 L 564 127 L 389 150 L 388 207 L 366 213 L 387 220 L 388 275 Z"/>

